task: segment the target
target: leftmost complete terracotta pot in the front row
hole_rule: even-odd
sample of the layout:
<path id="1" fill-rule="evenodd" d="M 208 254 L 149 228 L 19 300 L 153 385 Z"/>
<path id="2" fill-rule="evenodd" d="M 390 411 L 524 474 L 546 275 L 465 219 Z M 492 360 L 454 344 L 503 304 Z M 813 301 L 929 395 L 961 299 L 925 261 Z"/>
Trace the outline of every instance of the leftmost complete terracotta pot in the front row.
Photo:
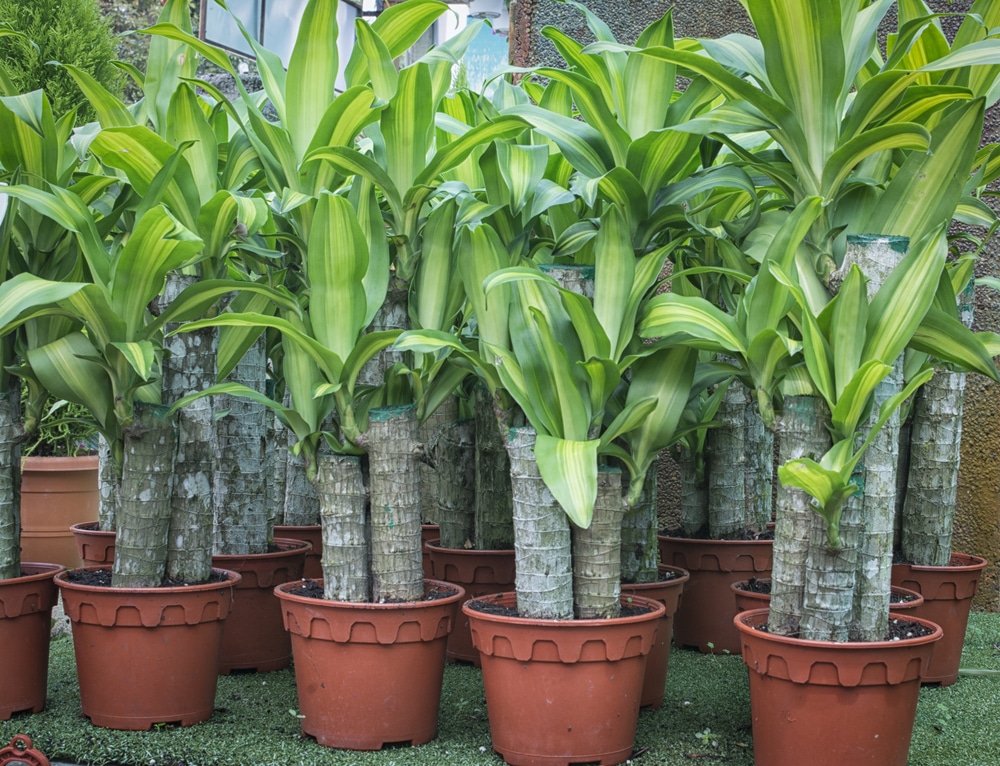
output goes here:
<path id="1" fill-rule="evenodd" d="M 137 731 L 212 715 L 222 628 L 240 581 L 223 574 L 223 582 L 168 588 L 104 588 L 56 575 L 91 723 Z"/>

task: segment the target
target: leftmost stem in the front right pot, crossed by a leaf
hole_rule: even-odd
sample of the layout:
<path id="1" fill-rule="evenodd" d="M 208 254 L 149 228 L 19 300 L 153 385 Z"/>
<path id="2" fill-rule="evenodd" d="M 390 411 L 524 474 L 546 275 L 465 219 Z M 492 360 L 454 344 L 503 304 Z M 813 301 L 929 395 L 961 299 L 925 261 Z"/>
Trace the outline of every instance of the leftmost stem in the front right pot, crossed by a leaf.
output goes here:
<path id="1" fill-rule="evenodd" d="M 778 464 L 801 457 L 818 457 L 830 448 L 826 429 L 830 413 L 822 399 L 789 396 L 778 414 Z M 778 485 L 775 505 L 771 612 L 767 627 L 788 636 L 799 632 L 805 598 L 806 558 L 810 532 L 822 519 L 812 509 L 812 498 L 802 490 Z"/>

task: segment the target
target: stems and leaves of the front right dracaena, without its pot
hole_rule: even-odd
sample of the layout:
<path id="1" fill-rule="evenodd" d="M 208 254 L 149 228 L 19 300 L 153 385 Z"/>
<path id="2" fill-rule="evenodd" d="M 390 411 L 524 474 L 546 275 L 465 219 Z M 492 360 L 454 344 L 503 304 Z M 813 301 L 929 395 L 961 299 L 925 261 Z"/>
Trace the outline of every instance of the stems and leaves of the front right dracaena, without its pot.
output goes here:
<path id="1" fill-rule="evenodd" d="M 984 206 L 967 195 L 984 175 L 973 170 L 989 154 L 977 159 L 976 148 L 984 96 L 992 92 L 997 43 L 982 18 L 970 16 L 952 50 L 935 47 L 931 55 L 931 38 L 940 30 L 922 4 L 911 3 L 901 12 L 890 56 L 882 59 L 874 32 L 886 2 L 857 11 L 840 3 L 750 0 L 745 5 L 758 39 L 730 35 L 702 41 L 701 53 L 678 46 L 644 55 L 699 73 L 726 96 L 722 105 L 680 129 L 713 135 L 732 161 L 767 178 L 761 193 L 769 207 L 783 203 L 787 221 L 771 216 L 761 223 L 776 224 L 774 231 L 797 230 L 790 256 L 765 258 L 744 293 L 749 322 L 787 340 L 769 346 L 773 357 L 747 358 L 743 350 L 753 338 L 737 332 L 744 329 L 741 314 L 722 320 L 697 300 L 685 306 L 680 298 L 664 298 L 647 319 L 670 315 L 678 322 L 675 327 L 694 337 L 705 335 L 702 328 L 690 327 L 700 323 L 696 316 L 714 322 L 725 331 L 728 353 L 742 357 L 751 381 L 761 370 L 774 369 L 774 359 L 802 360 L 782 362 L 786 371 L 778 382 L 785 396 L 778 423 L 801 432 L 801 419 L 791 421 L 812 402 L 818 409 L 810 417 L 820 430 L 806 453 L 786 453 L 780 474 L 786 486 L 779 499 L 785 507 L 778 509 L 772 629 L 801 629 L 814 638 L 878 638 L 884 633 L 882 602 L 887 606 L 887 599 L 882 596 L 888 592 L 891 550 L 891 524 L 887 530 L 881 513 L 895 503 L 881 498 L 857 512 L 860 520 L 852 522 L 860 530 L 856 546 L 845 547 L 838 532 L 844 529 L 839 514 L 850 505 L 848 498 L 854 501 L 849 476 L 862 465 L 861 451 L 878 438 L 894 441 L 890 412 L 904 394 L 899 383 L 892 387 L 886 381 L 901 379 L 892 371 L 908 344 L 945 362 L 996 374 L 982 345 L 955 317 L 954 303 L 935 296 L 942 283 L 948 222 L 953 216 L 989 220 Z M 795 40 L 807 41 L 815 55 L 802 59 Z M 911 87 L 917 83 L 933 84 Z M 747 140 L 747 134 L 757 138 Z M 872 264 L 861 264 L 862 275 L 843 257 L 844 234 L 852 232 L 909 237 L 909 252 L 895 270 L 892 262 L 879 273 Z M 836 297 L 831 277 L 841 281 Z M 865 280 L 882 286 L 872 290 L 870 309 L 859 314 L 867 303 Z M 753 301 L 764 295 L 769 308 L 761 313 Z M 664 323 L 655 326 L 658 333 L 669 332 Z M 911 386 L 918 380 L 911 379 Z M 768 388 L 755 387 L 766 414 Z M 832 447 L 825 441 L 824 422 L 832 429 Z M 888 435 L 879 436 L 886 428 Z M 825 456 L 810 459 L 808 452 Z M 867 454 L 865 469 L 871 471 L 872 452 Z M 869 482 L 862 478 L 858 484 Z M 813 523 L 808 514 L 792 521 L 791 508 L 799 502 L 795 488 L 803 487 L 820 512 L 812 516 L 818 534 L 811 544 L 794 548 L 792 527 Z M 797 539 L 807 537 L 800 531 Z M 830 572 L 836 574 L 827 576 Z M 847 593 L 847 603 L 838 602 L 835 593 Z"/>

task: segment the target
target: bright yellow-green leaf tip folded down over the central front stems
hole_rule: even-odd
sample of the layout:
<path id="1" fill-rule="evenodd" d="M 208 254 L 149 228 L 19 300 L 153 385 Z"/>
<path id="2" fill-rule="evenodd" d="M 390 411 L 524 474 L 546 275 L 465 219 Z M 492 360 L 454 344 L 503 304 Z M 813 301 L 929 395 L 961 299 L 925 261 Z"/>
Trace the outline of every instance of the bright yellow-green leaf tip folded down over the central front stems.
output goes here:
<path id="1" fill-rule="evenodd" d="M 539 433 L 535 441 L 538 472 L 552 496 L 576 526 L 586 529 L 597 499 L 596 439 L 573 441 Z"/>

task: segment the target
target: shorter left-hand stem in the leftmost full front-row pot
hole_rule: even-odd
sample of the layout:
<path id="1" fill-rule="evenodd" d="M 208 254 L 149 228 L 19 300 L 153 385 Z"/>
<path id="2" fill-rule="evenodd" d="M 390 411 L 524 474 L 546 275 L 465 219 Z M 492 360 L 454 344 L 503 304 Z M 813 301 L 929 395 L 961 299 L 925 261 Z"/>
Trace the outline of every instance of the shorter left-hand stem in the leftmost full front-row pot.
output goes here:
<path id="1" fill-rule="evenodd" d="M 177 426 L 166 407 L 137 402 L 125 431 L 121 503 L 111 584 L 155 588 L 167 569 Z"/>

